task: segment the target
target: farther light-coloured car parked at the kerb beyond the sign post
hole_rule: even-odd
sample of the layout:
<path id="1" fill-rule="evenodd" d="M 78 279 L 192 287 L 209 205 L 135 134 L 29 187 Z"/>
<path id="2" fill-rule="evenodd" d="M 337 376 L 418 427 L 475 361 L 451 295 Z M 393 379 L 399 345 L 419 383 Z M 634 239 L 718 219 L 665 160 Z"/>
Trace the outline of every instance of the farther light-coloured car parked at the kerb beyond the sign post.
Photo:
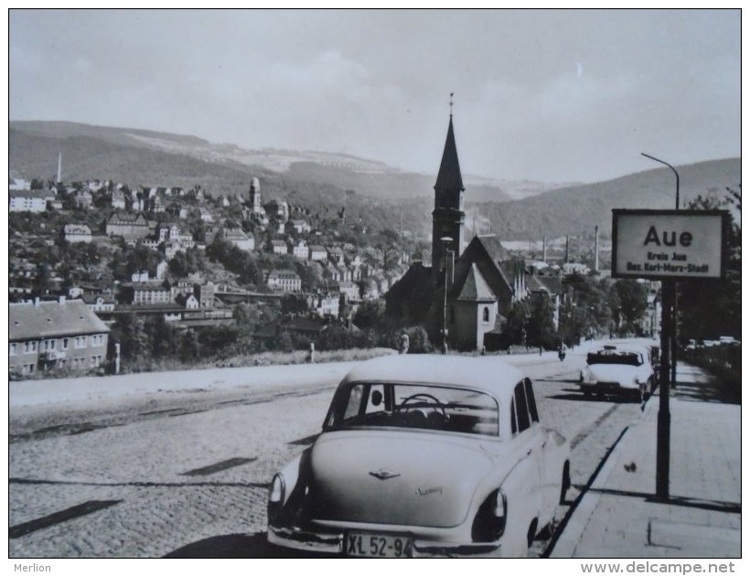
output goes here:
<path id="1" fill-rule="evenodd" d="M 655 387 L 651 352 L 645 347 L 605 346 L 586 355 L 579 385 L 584 396 L 614 394 L 642 402 Z"/>

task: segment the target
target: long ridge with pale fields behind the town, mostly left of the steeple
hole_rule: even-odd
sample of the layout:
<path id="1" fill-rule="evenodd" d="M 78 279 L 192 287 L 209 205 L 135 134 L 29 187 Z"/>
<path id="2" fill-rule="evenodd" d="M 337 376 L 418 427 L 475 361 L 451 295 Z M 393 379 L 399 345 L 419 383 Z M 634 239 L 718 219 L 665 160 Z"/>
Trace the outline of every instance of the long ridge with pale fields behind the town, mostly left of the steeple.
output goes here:
<path id="1" fill-rule="evenodd" d="M 112 178 L 173 186 L 199 182 L 233 193 L 245 174 L 329 185 L 380 199 L 432 197 L 434 175 L 402 172 L 353 155 L 212 144 L 194 136 L 67 122 L 11 122 L 10 166 L 27 178 L 52 178 L 58 154 L 63 178 Z M 438 159 L 435 160 L 437 162 Z M 466 195 L 476 201 L 504 202 L 554 187 L 550 183 L 495 181 L 466 175 Z"/>

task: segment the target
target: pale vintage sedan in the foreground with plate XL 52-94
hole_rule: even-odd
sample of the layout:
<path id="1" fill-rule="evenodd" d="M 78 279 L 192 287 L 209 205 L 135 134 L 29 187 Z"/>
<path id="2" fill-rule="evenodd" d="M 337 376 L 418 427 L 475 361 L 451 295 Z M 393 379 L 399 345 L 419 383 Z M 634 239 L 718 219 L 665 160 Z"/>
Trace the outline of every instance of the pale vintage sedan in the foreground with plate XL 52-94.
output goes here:
<path id="1" fill-rule="evenodd" d="M 524 556 L 570 486 L 570 446 L 497 357 L 359 364 L 273 476 L 268 540 L 344 556 Z"/>

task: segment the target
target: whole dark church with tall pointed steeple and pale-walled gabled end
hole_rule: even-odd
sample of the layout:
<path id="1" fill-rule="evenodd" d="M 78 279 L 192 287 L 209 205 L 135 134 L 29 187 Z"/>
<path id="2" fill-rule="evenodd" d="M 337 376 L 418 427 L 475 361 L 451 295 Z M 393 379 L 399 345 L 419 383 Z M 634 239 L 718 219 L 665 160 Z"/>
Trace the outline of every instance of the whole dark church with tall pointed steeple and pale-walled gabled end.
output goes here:
<path id="1" fill-rule="evenodd" d="M 513 304 L 528 315 L 534 297 L 550 298 L 558 310 L 562 283 L 527 273 L 497 236 L 477 235 L 465 245 L 464 192 L 451 113 L 434 185 L 431 265 L 411 265 L 386 294 L 386 313 L 404 325 L 423 325 L 441 346 L 493 350 Z"/>

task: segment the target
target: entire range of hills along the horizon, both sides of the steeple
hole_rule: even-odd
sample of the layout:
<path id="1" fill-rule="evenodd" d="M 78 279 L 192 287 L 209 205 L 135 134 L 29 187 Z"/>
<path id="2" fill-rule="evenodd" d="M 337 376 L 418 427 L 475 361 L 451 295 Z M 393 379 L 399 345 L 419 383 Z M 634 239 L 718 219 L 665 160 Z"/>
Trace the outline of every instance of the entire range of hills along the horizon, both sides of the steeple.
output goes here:
<path id="1" fill-rule="evenodd" d="M 244 150 L 194 136 L 64 122 L 12 122 L 11 170 L 54 178 L 58 154 L 63 179 L 113 179 L 132 185 L 193 187 L 246 193 L 252 176 L 263 198 L 285 197 L 321 212 L 346 208 L 353 221 L 411 229 L 426 235 L 435 175 L 403 173 L 352 155 L 265 148 Z M 739 158 L 678 166 L 680 199 L 722 193 L 741 182 Z M 494 181 L 465 175 L 469 235 L 492 231 L 504 240 L 606 235 L 612 208 L 674 208 L 674 176 L 659 167 L 613 180 L 550 189 L 541 182 Z"/>

